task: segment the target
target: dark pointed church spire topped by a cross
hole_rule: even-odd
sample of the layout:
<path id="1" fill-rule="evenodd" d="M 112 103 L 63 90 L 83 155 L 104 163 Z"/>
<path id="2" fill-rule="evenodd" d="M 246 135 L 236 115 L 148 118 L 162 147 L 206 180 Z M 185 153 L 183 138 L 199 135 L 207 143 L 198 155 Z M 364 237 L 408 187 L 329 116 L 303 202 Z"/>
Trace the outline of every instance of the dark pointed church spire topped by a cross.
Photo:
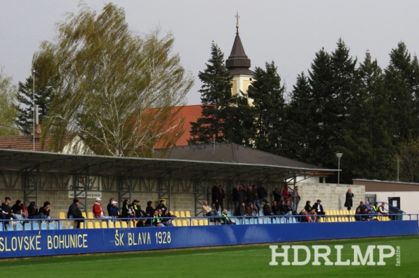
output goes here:
<path id="1" fill-rule="evenodd" d="M 226 68 L 230 71 L 230 75 L 253 75 L 254 72 L 249 70 L 250 68 L 250 59 L 247 57 L 244 52 L 244 47 L 242 45 L 242 40 L 239 36 L 239 13 L 236 15 L 236 36 L 233 43 L 233 48 L 231 49 L 230 56 L 226 60 Z"/>

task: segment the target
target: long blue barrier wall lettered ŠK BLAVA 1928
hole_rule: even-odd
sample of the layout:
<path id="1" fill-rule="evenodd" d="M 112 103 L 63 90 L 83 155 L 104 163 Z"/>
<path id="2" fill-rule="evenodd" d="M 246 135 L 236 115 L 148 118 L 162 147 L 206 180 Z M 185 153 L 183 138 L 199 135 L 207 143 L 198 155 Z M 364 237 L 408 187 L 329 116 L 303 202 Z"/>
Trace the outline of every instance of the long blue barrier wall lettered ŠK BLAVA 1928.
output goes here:
<path id="1" fill-rule="evenodd" d="M 1 231 L 0 258 L 418 235 L 418 221 Z"/>

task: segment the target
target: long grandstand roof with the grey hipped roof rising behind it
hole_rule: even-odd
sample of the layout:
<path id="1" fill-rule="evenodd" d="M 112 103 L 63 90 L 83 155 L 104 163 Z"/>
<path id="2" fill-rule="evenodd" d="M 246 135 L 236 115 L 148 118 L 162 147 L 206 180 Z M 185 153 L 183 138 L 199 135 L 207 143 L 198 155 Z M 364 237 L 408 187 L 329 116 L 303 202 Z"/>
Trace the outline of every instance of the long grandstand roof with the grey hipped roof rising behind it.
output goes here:
<path id="1" fill-rule="evenodd" d="M 219 158 L 216 158 L 217 155 Z M 0 148 L 0 171 L 45 171 L 98 175 L 170 176 L 171 178 L 240 178 L 284 180 L 293 175 L 337 171 L 288 160 L 252 148 L 225 144 L 177 147 L 167 158 L 106 157 Z M 206 158 L 205 158 L 206 157 Z"/>

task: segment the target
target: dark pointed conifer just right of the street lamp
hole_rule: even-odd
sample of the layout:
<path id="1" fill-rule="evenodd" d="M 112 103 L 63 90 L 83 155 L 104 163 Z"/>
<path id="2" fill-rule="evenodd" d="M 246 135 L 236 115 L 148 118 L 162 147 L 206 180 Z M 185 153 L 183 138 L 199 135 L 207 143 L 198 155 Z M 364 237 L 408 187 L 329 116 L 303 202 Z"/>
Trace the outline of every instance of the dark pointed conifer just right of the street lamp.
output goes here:
<path id="1" fill-rule="evenodd" d="M 392 141 L 388 123 L 388 91 L 383 71 L 371 54 L 358 68 L 357 91 L 344 131 L 346 176 L 388 179 Z"/>

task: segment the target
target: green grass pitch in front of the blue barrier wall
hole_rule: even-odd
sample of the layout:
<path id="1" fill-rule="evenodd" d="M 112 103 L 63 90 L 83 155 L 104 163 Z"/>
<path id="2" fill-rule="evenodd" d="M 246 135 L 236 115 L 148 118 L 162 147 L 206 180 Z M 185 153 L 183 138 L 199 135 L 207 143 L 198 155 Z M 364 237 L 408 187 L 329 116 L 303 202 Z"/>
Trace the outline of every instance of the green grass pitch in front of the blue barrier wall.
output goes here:
<path id="1" fill-rule="evenodd" d="M 396 257 L 385 259 L 383 266 L 283 266 L 269 265 L 269 245 L 182 249 L 118 254 L 91 254 L 43 258 L 19 258 L 0 261 L 2 277 L 418 277 L 419 236 L 394 238 L 369 238 L 357 240 L 329 240 L 321 242 L 284 243 L 284 245 L 344 245 L 342 261 L 353 258 L 351 245 L 360 245 L 362 252 L 367 245 L 400 247 L 401 265 Z M 364 248 L 365 247 L 365 248 Z M 281 246 L 279 246 L 281 248 Z M 363 249 L 364 248 L 364 249 Z M 312 249 L 311 249 L 312 250 Z M 289 261 L 293 261 L 290 250 Z M 332 254 L 334 254 L 332 252 Z M 376 253 L 374 253 L 375 255 Z M 329 256 L 335 261 L 335 256 Z M 304 258 L 299 258 L 300 261 Z M 352 261 L 352 260 L 351 260 Z M 374 257 L 374 261 L 378 258 Z M 323 262 L 321 260 L 321 262 Z"/>

